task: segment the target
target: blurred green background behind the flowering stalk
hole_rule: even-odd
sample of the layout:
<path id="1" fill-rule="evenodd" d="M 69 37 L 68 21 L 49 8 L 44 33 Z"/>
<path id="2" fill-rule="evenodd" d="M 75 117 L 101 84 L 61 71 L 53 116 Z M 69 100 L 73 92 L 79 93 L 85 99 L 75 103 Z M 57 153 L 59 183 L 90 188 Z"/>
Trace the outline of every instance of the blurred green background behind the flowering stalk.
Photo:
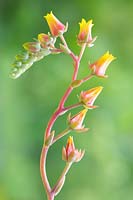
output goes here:
<path id="1" fill-rule="evenodd" d="M 35 63 L 17 80 L 9 78 L 10 65 L 21 45 L 38 33 L 48 31 L 47 12 L 69 22 L 65 34 L 78 54 L 76 35 L 81 18 L 93 19 L 95 46 L 87 49 L 79 78 L 88 74 L 87 63 L 107 50 L 117 57 L 108 79 L 94 78 L 70 96 L 77 102 L 81 90 L 102 85 L 96 101 L 99 109 L 89 111 L 87 134 L 72 133 L 78 148 L 86 149 L 82 162 L 74 164 L 57 200 L 133 199 L 133 1 L 132 0 L 1 0 L 0 1 L 0 200 L 44 200 L 39 159 L 48 119 L 68 86 L 73 71 L 66 55 L 52 55 Z M 81 108 L 80 108 L 81 109 Z M 77 113 L 78 110 L 72 113 Z M 66 127 L 67 114 L 57 121 Z M 57 131 L 57 132 L 58 132 Z M 48 175 L 55 183 L 63 169 L 62 146 L 66 137 L 48 154 Z"/>

